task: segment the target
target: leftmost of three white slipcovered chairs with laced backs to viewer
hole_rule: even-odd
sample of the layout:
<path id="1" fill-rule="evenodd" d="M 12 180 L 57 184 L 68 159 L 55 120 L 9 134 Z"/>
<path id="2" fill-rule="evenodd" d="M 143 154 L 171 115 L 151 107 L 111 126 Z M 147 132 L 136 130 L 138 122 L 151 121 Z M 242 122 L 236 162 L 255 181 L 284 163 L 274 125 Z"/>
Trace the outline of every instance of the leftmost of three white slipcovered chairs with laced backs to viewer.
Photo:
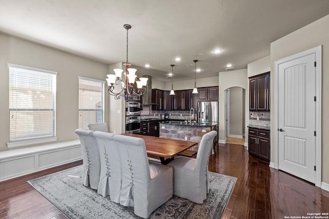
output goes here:
<path id="1" fill-rule="evenodd" d="M 82 149 L 82 184 L 92 189 L 98 189 L 100 174 L 100 158 L 97 142 L 93 131 L 76 129 Z"/>

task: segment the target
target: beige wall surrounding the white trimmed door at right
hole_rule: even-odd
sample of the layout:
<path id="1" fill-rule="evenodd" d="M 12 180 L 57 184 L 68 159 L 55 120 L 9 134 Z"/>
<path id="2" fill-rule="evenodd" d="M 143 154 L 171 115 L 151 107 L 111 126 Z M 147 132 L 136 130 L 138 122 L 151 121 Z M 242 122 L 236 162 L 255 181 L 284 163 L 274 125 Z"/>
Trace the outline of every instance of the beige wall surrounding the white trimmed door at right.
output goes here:
<path id="1" fill-rule="evenodd" d="M 322 181 L 329 184 L 329 15 L 271 43 L 271 88 L 275 88 L 274 62 L 281 58 L 322 45 Z M 273 72 L 273 73 L 272 73 Z M 271 89 L 271 130 L 275 128 L 275 89 Z M 274 133 L 271 132 L 271 161 Z"/>

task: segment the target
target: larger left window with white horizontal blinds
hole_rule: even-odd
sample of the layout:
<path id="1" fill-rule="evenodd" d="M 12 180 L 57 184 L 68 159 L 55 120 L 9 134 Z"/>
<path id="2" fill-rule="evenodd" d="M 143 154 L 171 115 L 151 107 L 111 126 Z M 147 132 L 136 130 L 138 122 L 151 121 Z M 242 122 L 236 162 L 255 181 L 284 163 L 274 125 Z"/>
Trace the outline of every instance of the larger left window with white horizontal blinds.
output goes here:
<path id="1" fill-rule="evenodd" d="M 57 72 L 8 64 L 8 147 L 56 141 Z"/>

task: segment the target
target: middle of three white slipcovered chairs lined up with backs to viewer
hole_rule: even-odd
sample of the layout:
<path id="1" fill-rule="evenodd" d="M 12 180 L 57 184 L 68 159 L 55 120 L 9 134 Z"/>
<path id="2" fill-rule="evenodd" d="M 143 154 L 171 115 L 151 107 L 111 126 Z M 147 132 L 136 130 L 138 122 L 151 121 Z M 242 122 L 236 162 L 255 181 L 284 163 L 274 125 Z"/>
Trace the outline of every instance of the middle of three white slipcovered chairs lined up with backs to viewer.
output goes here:
<path id="1" fill-rule="evenodd" d="M 97 192 L 103 197 L 109 195 L 111 201 L 120 203 L 121 163 L 115 134 L 95 131 L 99 149 L 101 171 Z"/>

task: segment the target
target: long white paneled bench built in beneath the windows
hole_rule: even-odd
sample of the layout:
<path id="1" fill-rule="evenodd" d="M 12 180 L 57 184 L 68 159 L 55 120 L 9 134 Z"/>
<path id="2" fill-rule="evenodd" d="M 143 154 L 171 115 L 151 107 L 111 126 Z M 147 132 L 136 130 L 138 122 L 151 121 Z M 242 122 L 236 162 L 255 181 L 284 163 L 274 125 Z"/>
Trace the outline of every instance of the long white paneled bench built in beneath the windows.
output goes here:
<path id="1" fill-rule="evenodd" d="M 79 140 L 2 151 L 0 182 L 81 159 Z"/>

